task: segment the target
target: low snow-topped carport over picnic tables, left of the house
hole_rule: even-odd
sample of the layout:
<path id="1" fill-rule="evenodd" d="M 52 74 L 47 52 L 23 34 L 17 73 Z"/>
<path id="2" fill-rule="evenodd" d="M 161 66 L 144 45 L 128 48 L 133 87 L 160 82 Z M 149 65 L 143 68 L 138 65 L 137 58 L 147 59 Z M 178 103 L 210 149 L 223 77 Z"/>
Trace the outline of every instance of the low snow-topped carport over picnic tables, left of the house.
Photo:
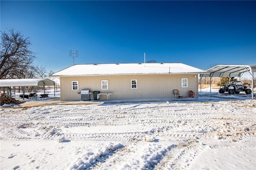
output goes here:
<path id="1" fill-rule="evenodd" d="M 25 86 L 44 86 L 44 95 L 45 95 L 45 86 L 50 85 L 54 86 L 54 96 L 55 96 L 55 82 L 50 79 L 0 79 L 0 87 L 23 87 L 23 99 L 25 95 L 24 87 Z M 36 93 L 36 91 L 35 91 Z"/>

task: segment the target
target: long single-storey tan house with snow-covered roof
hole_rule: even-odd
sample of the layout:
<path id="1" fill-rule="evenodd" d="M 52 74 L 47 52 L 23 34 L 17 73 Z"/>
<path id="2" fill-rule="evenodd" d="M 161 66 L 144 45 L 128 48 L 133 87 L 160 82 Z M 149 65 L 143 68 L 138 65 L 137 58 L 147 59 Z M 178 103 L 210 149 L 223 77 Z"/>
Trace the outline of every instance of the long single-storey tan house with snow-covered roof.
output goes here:
<path id="1" fill-rule="evenodd" d="M 204 70 L 182 63 L 78 64 L 58 71 L 60 100 L 81 100 L 81 90 L 99 91 L 100 100 L 183 97 L 198 94 L 198 74 Z M 99 93 L 98 92 L 98 93 Z M 90 95 L 94 99 L 94 95 Z"/>

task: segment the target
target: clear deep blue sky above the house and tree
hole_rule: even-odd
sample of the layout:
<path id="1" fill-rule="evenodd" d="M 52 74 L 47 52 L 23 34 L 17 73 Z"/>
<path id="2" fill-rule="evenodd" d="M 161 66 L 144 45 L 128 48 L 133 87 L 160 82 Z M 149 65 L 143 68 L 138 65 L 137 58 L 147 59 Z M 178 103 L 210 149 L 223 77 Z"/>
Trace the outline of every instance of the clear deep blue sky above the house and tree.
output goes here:
<path id="1" fill-rule="evenodd" d="M 30 37 L 35 64 L 256 65 L 256 1 L 0 1 L 1 31 Z"/>

